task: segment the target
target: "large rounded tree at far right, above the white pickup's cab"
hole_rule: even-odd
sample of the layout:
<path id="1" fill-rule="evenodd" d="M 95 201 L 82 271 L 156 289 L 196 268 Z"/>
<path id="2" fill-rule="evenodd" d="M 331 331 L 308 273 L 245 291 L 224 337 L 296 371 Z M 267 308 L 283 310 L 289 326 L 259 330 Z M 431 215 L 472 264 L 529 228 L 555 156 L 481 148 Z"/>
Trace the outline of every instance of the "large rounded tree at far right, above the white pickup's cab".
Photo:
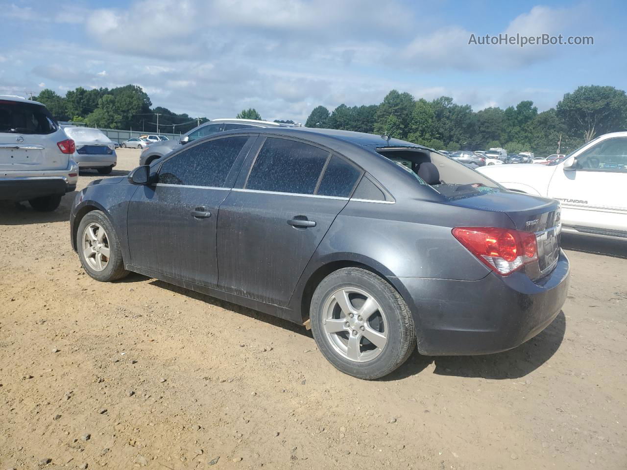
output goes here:
<path id="1" fill-rule="evenodd" d="M 626 128 L 627 96 L 613 86 L 579 86 L 557 103 L 557 117 L 589 142 L 596 135 Z"/>

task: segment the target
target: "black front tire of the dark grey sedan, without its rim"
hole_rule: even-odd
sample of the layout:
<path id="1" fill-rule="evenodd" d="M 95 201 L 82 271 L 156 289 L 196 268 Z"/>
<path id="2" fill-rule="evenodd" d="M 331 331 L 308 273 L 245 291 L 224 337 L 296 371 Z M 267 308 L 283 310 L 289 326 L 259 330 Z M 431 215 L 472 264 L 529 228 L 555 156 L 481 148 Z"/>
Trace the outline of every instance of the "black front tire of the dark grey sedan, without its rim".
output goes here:
<path id="1" fill-rule="evenodd" d="M 109 248 L 110 258 L 108 259 L 107 266 L 102 271 L 97 271 L 90 266 L 85 259 L 85 253 L 83 252 L 83 234 L 85 228 L 93 222 L 100 224 L 105 229 L 107 234 L 107 242 Z M 129 274 L 129 271 L 124 269 L 124 260 L 122 259 L 122 249 L 120 248 L 120 239 L 113 229 L 113 225 L 105 216 L 102 211 L 92 211 L 85 214 L 78 224 L 78 231 L 76 232 L 76 249 L 78 251 L 78 258 L 83 265 L 83 269 L 87 271 L 92 278 L 101 282 L 116 281 L 122 279 Z"/>

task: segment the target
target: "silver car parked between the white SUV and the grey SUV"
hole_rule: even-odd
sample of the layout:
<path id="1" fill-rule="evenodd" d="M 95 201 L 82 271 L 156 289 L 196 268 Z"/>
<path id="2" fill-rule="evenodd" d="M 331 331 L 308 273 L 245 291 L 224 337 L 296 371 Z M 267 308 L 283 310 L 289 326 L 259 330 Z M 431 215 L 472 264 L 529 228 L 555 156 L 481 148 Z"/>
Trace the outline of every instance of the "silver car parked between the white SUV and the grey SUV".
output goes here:
<path id="1" fill-rule="evenodd" d="M 76 126 L 66 126 L 64 130 L 76 144 L 75 160 L 81 169 L 96 169 L 107 175 L 117 165 L 115 145 L 102 130 Z"/>

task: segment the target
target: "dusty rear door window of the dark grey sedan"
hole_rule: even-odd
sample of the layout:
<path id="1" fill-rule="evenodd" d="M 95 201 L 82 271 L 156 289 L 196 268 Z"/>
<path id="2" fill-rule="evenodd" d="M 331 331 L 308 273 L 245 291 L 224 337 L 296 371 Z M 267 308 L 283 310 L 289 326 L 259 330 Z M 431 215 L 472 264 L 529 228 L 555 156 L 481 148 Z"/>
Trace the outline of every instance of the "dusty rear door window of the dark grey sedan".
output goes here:
<path id="1" fill-rule="evenodd" d="M 246 189 L 314 194 L 327 157 L 327 150 L 312 145 L 266 138 L 248 175 Z"/>

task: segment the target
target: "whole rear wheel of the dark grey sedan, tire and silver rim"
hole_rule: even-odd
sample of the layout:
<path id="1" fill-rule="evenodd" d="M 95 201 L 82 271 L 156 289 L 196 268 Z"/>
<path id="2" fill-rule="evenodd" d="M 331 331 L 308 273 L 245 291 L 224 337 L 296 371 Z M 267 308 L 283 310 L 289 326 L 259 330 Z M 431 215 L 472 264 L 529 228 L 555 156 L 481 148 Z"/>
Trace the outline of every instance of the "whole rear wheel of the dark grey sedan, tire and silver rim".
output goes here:
<path id="1" fill-rule="evenodd" d="M 324 357 L 359 379 L 387 375 L 416 347 L 403 297 L 366 269 L 342 268 L 324 278 L 312 297 L 310 320 Z"/>

